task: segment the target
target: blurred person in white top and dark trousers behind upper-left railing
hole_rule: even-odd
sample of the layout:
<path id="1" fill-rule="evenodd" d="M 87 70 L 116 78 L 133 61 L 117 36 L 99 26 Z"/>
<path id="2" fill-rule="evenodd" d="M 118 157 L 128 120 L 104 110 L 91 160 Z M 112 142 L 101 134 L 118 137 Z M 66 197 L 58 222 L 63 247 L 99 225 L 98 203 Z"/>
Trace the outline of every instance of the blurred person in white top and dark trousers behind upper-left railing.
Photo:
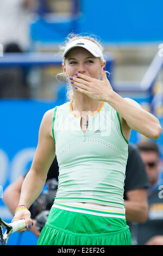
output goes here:
<path id="1" fill-rule="evenodd" d="M 0 44 L 5 54 L 23 54 L 30 48 L 30 19 L 36 0 L 1 0 Z M 15 57 L 16 58 L 16 57 Z M 2 66 L 0 69 L 0 98 L 29 98 L 27 81 L 29 69 L 24 66 Z"/>

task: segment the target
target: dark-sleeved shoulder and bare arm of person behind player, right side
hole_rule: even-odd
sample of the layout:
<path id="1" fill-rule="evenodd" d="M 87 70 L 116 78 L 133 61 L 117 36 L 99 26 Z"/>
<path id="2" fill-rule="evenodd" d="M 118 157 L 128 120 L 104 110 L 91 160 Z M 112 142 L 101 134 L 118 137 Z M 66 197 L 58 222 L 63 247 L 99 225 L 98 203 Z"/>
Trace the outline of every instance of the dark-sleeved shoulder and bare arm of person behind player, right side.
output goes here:
<path id="1" fill-rule="evenodd" d="M 136 145 L 130 143 L 128 145 L 126 179 L 124 180 L 124 204 L 128 225 L 130 222 L 143 223 L 147 220 L 147 188 L 149 188 L 149 180 L 145 165 Z"/>

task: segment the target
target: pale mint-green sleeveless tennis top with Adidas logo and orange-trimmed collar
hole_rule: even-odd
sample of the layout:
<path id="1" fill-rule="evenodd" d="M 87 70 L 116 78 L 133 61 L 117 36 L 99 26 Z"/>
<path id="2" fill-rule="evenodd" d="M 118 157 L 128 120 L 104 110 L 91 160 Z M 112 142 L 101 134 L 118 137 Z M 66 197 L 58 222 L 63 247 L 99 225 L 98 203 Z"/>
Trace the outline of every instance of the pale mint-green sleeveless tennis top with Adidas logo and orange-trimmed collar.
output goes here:
<path id="1" fill-rule="evenodd" d="M 54 108 L 53 137 L 59 165 L 55 202 L 85 202 L 124 208 L 128 141 L 118 113 L 103 102 L 89 115 L 86 133 L 72 101 Z"/>

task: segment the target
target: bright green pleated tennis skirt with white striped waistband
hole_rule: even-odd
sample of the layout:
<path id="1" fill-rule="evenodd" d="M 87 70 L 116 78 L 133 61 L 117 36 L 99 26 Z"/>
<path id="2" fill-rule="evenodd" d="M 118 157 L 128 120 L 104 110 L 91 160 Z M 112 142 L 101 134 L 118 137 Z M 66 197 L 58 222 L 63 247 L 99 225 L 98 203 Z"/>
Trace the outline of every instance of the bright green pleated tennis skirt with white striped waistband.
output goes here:
<path id="1" fill-rule="evenodd" d="M 37 245 L 131 245 L 125 210 L 87 203 L 54 203 Z"/>

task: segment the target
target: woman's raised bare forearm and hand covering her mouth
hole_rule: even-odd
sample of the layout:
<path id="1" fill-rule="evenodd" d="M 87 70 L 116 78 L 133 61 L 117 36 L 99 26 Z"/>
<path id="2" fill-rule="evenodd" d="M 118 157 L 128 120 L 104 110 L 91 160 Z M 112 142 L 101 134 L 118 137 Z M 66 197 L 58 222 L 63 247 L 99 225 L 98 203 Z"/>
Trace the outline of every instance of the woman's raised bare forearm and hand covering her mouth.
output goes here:
<path id="1" fill-rule="evenodd" d="M 158 139 L 162 130 L 159 120 L 136 101 L 123 98 L 114 92 L 103 68 L 101 75 L 102 81 L 78 74 L 77 77 L 73 77 L 72 86 L 91 99 L 108 102 L 120 114 L 122 130 L 127 139 L 130 137 L 131 129 L 148 138 Z"/>

